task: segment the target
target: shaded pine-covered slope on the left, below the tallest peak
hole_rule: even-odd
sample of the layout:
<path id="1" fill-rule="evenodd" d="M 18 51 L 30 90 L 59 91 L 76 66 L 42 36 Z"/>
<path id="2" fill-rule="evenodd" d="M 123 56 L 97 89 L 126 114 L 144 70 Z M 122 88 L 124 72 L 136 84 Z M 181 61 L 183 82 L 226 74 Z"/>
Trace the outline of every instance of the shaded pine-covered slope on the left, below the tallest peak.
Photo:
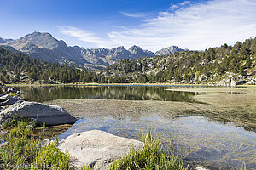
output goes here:
<path id="1" fill-rule="evenodd" d="M 104 82 L 104 77 L 94 71 L 75 69 L 67 65 L 52 64 L 33 59 L 20 52 L 0 48 L 0 80 L 2 82 Z"/>

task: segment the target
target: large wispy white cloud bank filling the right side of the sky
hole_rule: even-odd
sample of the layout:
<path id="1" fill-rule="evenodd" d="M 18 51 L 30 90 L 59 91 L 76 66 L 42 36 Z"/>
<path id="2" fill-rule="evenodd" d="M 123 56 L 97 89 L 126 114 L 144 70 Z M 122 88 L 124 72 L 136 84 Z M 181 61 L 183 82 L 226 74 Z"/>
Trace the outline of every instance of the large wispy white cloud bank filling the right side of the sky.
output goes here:
<path id="1" fill-rule="evenodd" d="M 110 44 L 128 48 L 137 44 L 153 51 L 171 45 L 205 49 L 256 37 L 255 0 L 185 2 L 178 4 L 181 8 L 160 12 L 135 28 L 108 32 L 108 40 L 87 31 L 69 29 L 62 32 L 100 46 Z"/>

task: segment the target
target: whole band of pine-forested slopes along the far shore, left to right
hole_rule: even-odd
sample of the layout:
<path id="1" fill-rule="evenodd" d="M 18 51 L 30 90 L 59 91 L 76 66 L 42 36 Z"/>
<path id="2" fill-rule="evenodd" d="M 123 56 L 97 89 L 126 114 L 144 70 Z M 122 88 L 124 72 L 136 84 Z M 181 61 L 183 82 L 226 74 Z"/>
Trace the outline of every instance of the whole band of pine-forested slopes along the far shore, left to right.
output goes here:
<path id="1" fill-rule="evenodd" d="M 216 85 L 256 84 L 256 38 L 205 51 L 180 51 L 168 56 L 123 59 L 105 71 L 52 64 L 0 48 L 2 82 L 126 83 L 171 82 Z M 235 84 L 235 85 L 236 85 Z"/>

